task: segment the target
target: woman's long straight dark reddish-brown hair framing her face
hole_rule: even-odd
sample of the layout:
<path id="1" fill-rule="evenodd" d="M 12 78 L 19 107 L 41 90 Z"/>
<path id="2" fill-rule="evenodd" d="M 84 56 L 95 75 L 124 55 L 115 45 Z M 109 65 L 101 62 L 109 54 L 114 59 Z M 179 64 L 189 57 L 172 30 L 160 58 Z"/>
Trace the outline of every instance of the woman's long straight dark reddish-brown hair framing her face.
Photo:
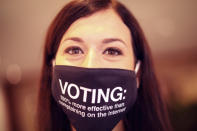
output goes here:
<path id="1" fill-rule="evenodd" d="M 81 17 L 112 8 L 130 29 L 136 59 L 141 61 L 137 101 L 127 113 L 126 131 L 170 131 L 166 105 L 160 94 L 152 57 L 144 33 L 132 13 L 114 0 L 75 0 L 66 4 L 49 26 L 45 46 L 38 98 L 38 130 L 70 131 L 70 122 L 51 94 L 52 60 L 60 40 L 70 25 Z"/>

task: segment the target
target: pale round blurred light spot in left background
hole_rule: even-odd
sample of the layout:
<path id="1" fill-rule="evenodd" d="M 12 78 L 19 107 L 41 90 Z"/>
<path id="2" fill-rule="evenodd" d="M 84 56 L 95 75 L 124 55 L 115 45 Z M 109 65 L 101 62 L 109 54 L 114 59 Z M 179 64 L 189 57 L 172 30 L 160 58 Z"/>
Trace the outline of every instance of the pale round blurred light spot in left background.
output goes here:
<path id="1" fill-rule="evenodd" d="M 11 84 L 18 84 L 21 81 L 21 68 L 17 64 L 9 65 L 6 69 L 6 78 Z"/>

